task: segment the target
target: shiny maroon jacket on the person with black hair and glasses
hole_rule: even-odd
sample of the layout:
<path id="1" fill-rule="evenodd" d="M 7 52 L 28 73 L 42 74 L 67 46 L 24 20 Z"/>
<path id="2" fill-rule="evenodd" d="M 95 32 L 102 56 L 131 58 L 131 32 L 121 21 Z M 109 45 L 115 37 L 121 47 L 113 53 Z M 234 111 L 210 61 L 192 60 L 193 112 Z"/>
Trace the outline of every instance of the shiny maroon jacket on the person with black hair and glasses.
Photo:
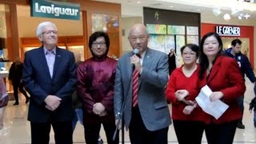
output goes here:
<path id="1" fill-rule="evenodd" d="M 113 58 L 89 58 L 78 66 L 77 94 L 82 99 L 86 122 L 114 120 L 114 78 L 118 61 Z M 93 113 L 96 102 L 101 102 L 107 115 Z"/>

